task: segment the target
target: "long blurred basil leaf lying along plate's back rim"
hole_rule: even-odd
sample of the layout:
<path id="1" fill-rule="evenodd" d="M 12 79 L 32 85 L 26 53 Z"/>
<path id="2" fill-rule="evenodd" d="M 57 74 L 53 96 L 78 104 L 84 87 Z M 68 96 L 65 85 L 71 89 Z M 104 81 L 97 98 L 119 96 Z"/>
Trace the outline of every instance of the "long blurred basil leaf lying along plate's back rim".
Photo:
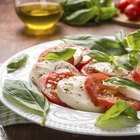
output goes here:
<path id="1" fill-rule="evenodd" d="M 95 35 L 65 36 L 61 38 L 65 42 L 73 42 L 77 45 L 88 47 L 91 50 L 98 50 L 108 55 L 123 55 L 128 51 L 117 41 Z"/>

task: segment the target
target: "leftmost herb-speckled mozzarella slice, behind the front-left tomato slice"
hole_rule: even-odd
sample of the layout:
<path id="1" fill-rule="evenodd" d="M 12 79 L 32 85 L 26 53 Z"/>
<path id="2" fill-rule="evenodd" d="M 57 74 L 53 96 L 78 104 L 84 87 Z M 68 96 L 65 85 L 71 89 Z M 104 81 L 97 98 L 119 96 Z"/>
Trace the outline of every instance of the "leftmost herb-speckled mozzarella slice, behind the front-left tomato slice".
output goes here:
<path id="1" fill-rule="evenodd" d="M 34 83 L 37 83 L 38 78 L 42 76 L 43 74 L 46 74 L 51 71 L 55 71 L 58 69 L 69 69 L 71 72 L 80 75 L 78 70 L 70 63 L 65 61 L 43 61 L 43 62 L 37 62 L 31 71 L 31 79 Z"/>

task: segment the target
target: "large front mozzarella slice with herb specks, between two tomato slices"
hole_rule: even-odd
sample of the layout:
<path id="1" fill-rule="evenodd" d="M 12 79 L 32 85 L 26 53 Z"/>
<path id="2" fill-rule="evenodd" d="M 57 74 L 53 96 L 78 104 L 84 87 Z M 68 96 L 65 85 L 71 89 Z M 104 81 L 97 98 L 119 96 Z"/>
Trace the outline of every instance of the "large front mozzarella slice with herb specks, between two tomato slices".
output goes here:
<path id="1" fill-rule="evenodd" d="M 59 99 L 72 108 L 82 111 L 102 112 L 102 106 L 95 106 L 85 89 L 85 76 L 73 76 L 58 82 Z"/>

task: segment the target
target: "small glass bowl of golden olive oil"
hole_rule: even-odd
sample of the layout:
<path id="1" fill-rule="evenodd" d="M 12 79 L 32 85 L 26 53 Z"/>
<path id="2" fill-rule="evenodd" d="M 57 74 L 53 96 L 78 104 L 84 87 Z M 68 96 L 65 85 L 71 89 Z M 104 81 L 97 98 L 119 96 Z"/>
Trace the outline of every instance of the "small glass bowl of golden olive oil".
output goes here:
<path id="1" fill-rule="evenodd" d="M 16 7 L 17 15 L 33 30 L 52 28 L 60 19 L 63 10 L 56 3 L 28 3 Z"/>

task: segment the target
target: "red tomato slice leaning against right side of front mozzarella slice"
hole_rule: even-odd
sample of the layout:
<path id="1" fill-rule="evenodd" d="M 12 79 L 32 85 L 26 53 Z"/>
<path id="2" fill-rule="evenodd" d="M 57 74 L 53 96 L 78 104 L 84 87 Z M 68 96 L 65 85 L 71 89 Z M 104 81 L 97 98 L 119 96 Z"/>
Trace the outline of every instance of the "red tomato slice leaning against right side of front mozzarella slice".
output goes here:
<path id="1" fill-rule="evenodd" d="M 85 81 L 86 90 L 96 106 L 99 104 L 97 96 L 102 88 L 102 81 L 106 78 L 108 78 L 108 76 L 103 73 L 94 73 L 89 75 Z"/>

